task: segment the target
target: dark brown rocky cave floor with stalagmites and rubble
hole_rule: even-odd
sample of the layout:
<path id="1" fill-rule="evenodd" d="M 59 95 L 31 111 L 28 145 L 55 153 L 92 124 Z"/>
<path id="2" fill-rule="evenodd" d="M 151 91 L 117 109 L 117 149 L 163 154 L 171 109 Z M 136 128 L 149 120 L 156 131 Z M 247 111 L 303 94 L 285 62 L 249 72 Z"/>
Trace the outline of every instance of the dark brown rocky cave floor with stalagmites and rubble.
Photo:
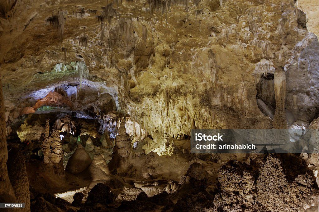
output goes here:
<path id="1" fill-rule="evenodd" d="M 191 154 L 188 139 L 171 138 L 162 147 L 145 138 L 134 146 L 124 118 L 112 139 L 110 132 L 98 133 L 93 121 L 67 114 L 54 122 L 41 117 L 50 116 L 29 115 L 18 128 L 19 138 L 26 139 L 20 148 L 9 142 L 9 176 L 19 175 L 16 155 L 26 160 L 31 211 L 318 209 L 318 154 Z M 45 151 L 48 140 L 51 148 Z"/>

